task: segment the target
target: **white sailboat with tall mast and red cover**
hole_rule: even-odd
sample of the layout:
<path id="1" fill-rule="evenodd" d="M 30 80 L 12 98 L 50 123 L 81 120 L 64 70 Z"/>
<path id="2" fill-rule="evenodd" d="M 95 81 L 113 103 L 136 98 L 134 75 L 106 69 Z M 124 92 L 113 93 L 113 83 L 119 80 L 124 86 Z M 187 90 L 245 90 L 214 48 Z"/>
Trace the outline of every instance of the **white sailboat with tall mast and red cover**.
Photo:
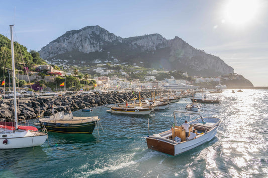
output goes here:
<path id="1" fill-rule="evenodd" d="M 0 149 L 25 148 L 42 145 L 47 134 L 39 132 L 36 127 L 18 125 L 17 98 L 16 98 L 16 75 L 13 43 L 13 26 L 10 26 L 11 32 L 11 56 L 13 70 L 13 90 L 14 90 L 14 117 L 15 122 L 0 122 Z"/>

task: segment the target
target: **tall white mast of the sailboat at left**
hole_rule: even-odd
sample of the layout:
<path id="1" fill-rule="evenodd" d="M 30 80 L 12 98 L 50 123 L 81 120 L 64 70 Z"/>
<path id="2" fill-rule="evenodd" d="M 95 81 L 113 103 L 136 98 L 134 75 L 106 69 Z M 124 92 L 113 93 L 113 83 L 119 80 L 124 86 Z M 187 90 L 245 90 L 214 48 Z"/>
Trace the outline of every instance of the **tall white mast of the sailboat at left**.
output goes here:
<path id="1" fill-rule="evenodd" d="M 17 116 L 17 97 L 16 97 L 16 75 L 15 75 L 15 59 L 14 59 L 14 44 L 13 44 L 13 26 L 10 25 L 10 41 L 11 41 L 11 58 L 12 58 L 12 78 L 13 78 L 13 91 L 14 91 L 14 117 L 16 129 L 18 129 L 18 116 Z"/>

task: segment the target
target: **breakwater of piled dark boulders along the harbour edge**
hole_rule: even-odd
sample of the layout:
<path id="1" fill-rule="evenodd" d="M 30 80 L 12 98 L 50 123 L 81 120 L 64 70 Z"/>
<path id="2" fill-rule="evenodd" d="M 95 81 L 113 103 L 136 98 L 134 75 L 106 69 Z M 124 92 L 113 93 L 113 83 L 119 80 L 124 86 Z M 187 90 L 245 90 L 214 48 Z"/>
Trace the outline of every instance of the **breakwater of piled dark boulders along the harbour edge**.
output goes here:
<path id="1" fill-rule="evenodd" d="M 161 94 L 167 94 L 167 91 L 161 91 Z M 141 92 L 141 98 L 149 97 L 151 97 L 151 91 Z M 135 98 L 139 98 L 138 92 L 135 92 Z M 85 107 L 92 108 L 106 104 L 122 103 L 131 101 L 132 99 L 132 92 L 54 96 L 50 98 L 24 98 L 17 101 L 18 121 L 52 115 L 52 106 L 69 105 L 70 109 L 75 111 Z M 0 101 L 0 121 L 13 121 L 13 102 L 13 99 Z"/>

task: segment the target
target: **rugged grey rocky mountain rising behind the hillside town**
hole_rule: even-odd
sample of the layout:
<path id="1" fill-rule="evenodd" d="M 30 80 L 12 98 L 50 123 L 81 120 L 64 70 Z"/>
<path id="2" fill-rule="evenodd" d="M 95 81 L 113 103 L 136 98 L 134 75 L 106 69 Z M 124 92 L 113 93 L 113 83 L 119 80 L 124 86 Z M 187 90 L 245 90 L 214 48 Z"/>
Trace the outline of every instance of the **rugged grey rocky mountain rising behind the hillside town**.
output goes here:
<path id="1" fill-rule="evenodd" d="M 39 53 L 43 59 L 86 61 L 87 64 L 95 59 L 106 60 L 109 55 L 121 62 L 137 63 L 147 68 L 187 71 L 190 75 L 203 77 L 234 71 L 219 57 L 198 50 L 181 38 L 166 40 L 159 34 L 121 38 L 100 26 L 68 31 Z"/>

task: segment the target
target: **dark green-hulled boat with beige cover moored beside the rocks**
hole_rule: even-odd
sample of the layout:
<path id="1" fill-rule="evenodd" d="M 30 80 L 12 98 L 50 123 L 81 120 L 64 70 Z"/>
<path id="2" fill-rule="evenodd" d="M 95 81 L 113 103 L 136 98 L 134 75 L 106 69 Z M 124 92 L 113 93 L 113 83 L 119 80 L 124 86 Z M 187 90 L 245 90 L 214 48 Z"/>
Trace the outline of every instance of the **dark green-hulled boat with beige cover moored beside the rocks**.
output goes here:
<path id="1" fill-rule="evenodd" d="M 55 109 L 63 110 L 55 113 Z M 64 111 L 66 111 L 64 113 Z M 97 122 L 100 121 L 98 116 L 75 117 L 72 115 L 69 106 L 52 107 L 52 116 L 39 119 L 41 128 L 46 128 L 51 132 L 60 133 L 93 133 Z"/>

